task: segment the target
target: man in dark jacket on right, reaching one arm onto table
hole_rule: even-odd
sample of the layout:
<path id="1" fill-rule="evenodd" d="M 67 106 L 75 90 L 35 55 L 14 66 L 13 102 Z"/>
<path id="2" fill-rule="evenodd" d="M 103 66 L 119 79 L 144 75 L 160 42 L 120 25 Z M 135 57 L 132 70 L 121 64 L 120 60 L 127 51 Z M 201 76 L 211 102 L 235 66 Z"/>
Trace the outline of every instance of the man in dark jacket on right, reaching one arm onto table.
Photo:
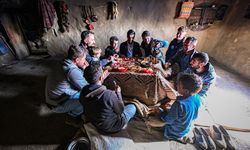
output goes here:
<path id="1" fill-rule="evenodd" d="M 189 67 L 193 55 L 197 53 L 195 47 L 197 45 L 197 39 L 195 37 L 187 37 L 184 42 L 183 50 L 179 51 L 174 57 L 172 57 L 165 64 L 165 68 L 169 68 L 171 65 L 177 63 L 179 66 L 178 72 L 183 72 Z"/>

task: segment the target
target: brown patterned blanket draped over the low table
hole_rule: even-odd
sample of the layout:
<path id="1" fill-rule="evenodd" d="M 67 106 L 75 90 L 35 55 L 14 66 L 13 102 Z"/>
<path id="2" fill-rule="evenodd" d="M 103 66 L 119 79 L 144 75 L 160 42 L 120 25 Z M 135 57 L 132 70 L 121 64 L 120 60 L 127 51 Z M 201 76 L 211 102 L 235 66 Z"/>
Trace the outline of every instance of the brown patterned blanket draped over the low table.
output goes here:
<path id="1" fill-rule="evenodd" d="M 124 97 L 136 98 L 148 106 L 157 104 L 163 99 L 176 99 L 177 92 L 173 84 L 167 81 L 158 71 L 156 74 L 134 72 L 111 72 L 104 81 L 109 89 L 114 89 L 114 83 L 122 89 Z"/>

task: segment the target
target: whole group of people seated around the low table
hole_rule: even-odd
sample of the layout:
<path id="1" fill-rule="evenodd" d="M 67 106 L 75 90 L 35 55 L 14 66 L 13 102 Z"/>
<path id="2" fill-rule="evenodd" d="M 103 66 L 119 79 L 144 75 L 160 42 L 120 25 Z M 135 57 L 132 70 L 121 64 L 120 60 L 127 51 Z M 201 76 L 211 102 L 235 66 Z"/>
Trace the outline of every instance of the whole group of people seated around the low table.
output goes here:
<path id="1" fill-rule="evenodd" d="M 110 45 L 102 51 L 95 46 L 91 31 L 83 31 L 79 46 L 71 45 L 62 66 L 52 70 L 46 82 L 46 101 L 52 111 L 68 113 L 74 117 L 85 115 L 90 122 L 104 133 L 114 133 L 126 127 L 136 114 L 134 104 L 125 105 L 121 88 L 107 89 L 102 85 L 109 75 L 103 66 L 120 57 L 156 57 L 164 69 L 178 66 L 176 88 L 179 93 L 172 106 L 163 103 L 151 109 L 166 122 L 164 136 L 167 139 L 182 139 L 190 131 L 198 116 L 198 109 L 215 81 L 215 71 L 209 57 L 197 52 L 195 37 L 185 37 L 187 28 L 177 30 L 176 38 L 170 44 L 166 40 L 151 37 L 149 31 L 142 33 L 142 43 L 134 41 L 135 31 L 127 32 L 127 41 L 119 46 L 116 36 L 110 38 Z M 161 48 L 167 47 L 165 59 Z"/>

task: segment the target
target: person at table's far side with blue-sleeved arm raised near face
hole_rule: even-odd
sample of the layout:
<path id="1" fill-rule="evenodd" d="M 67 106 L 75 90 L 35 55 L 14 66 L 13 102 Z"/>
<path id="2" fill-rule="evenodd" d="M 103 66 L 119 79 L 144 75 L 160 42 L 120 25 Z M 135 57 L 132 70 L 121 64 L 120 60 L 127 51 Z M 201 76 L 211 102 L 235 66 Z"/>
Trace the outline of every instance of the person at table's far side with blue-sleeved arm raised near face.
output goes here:
<path id="1" fill-rule="evenodd" d="M 160 49 L 167 46 L 168 41 L 153 39 L 149 31 L 144 31 L 142 33 L 141 51 L 143 56 L 154 56 L 159 59 L 162 64 L 165 64 L 163 53 Z"/>

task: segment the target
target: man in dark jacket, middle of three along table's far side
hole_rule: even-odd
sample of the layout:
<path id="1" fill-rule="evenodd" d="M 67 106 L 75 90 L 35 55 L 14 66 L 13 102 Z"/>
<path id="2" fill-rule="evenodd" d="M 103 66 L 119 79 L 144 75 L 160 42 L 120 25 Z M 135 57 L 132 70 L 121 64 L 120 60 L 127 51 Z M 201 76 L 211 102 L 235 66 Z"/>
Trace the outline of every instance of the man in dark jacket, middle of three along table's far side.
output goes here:
<path id="1" fill-rule="evenodd" d="M 120 55 L 124 57 L 141 57 L 140 44 L 134 41 L 135 31 L 130 29 L 127 32 L 127 41 L 120 45 Z"/>

